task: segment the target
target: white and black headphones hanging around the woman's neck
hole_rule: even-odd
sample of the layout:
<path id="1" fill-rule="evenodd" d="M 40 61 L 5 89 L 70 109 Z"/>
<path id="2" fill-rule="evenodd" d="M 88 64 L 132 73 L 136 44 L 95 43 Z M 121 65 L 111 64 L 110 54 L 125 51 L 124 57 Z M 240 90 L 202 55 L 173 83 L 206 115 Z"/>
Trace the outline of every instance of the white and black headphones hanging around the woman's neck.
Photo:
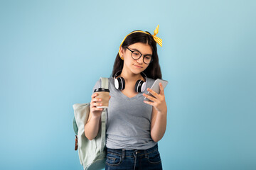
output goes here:
<path id="1" fill-rule="evenodd" d="M 122 70 L 119 70 L 118 72 L 121 72 Z M 117 73 L 118 73 L 117 72 Z M 125 88 L 125 81 L 123 77 L 117 77 L 117 73 L 114 74 L 114 87 L 119 90 L 122 91 Z M 144 72 L 142 72 L 142 74 L 144 74 Z M 144 74 L 144 78 L 146 79 L 146 74 Z M 146 79 L 147 80 L 147 79 Z M 146 89 L 146 82 L 144 82 L 142 79 L 139 79 L 136 84 L 135 84 L 135 91 L 142 93 L 143 91 L 145 91 Z"/>

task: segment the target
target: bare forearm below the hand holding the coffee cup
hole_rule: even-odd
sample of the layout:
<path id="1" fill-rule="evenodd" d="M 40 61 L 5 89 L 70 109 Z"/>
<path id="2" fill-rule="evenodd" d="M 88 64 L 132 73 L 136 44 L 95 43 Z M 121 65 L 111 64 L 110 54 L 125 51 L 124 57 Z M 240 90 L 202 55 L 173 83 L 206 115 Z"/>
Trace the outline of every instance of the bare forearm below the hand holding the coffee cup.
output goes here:
<path id="1" fill-rule="evenodd" d="M 91 114 L 91 113 L 90 113 Z M 88 140 L 93 140 L 100 129 L 100 116 L 94 117 L 92 116 L 90 120 L 85 124 L 85 137 Z"/>

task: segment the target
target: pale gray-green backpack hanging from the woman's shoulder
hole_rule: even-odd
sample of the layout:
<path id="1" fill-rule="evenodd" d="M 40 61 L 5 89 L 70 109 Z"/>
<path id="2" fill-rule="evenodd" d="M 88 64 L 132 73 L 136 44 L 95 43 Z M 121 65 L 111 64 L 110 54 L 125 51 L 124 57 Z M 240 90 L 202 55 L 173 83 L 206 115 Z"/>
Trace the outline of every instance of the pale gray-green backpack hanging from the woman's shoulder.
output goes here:
<path id="1" fill-rule="evenodd" d="M 101 87 L 108 89 L 108 79 L 101 79 Z M 105 168 L 106 161 L 106 118 L 107 118 L 107 108 L 104 108 L 101 115 L 101 126 L 100 130 L 93 140 L 88 140 L 85 137 L 85 123 L 89 118 L 90 113 L 90 103 L 74 104 L 74 114 L 73 118 L 73 129 L 75 131 L 75 150 L 78 149 L 78 155 L 80 159 L 80 164 L 82 164 L 85 170 L 97 170 Z"/>

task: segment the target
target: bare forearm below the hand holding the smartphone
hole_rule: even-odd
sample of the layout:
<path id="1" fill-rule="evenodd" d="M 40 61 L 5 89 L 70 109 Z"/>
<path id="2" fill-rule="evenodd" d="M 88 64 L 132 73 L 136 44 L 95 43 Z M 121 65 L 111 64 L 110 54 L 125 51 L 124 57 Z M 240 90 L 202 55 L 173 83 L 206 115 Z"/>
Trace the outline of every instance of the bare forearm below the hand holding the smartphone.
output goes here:
<path id="1" fill-rule="evenodd" d="M 167 111 L 165 113 L 157 113 L 156 115 L 154 126 L 151 127 L 151 138 L 154 142 L 158 142 L 164 136 L 166 131 L 166 117 Z"/>

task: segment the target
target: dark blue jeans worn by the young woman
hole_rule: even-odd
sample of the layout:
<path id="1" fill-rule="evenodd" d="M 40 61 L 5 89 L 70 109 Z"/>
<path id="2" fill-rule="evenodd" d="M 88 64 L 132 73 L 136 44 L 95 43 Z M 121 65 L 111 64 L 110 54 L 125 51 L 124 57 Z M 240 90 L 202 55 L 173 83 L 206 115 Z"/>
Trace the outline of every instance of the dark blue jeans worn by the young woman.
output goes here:
<path id="1" fill-rule="evenodd" d="M 161 170 L 158 145 L 145 150 L 107 148 L 106 170 Z"/>

